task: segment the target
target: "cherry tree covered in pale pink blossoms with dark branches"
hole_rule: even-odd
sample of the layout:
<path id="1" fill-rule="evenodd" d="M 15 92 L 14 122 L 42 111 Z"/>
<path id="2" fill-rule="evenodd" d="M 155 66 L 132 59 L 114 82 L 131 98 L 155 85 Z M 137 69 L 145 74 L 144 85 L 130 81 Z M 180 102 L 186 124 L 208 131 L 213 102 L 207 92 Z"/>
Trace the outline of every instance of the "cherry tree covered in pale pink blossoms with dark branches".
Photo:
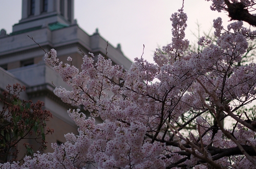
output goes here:
<path id="1" fill-rule="evenodd" d="M 0 167 L 255 168 L 255 108 L 246 106 L 256 99 L 256 65 L 244 59 L 254 53 L 248 44 L 256 32 L 242 21 L 254 17 L 254 3 L 212 0 L 211 10 L 228 11 L 233 21 L 224 28 L 216 18 L 216 41 L 201 37 L 198 51 L 188 48 L 187 15 L 179 9 L 170 18 L 172 43 L 155 51 L 155 63 L 136 58 L 129 70 L 89 53 L 79 71 L 72 58 L 63 64 L 51 49 L 45 61 L 72 87 L 54 93 L 82 105 L 90 117 L 70 109 L 79 135 L 68 133 L 66 143 L 52 144 L 54 153 Z M 246 15 L 234 16 L 234 9 Z"/>

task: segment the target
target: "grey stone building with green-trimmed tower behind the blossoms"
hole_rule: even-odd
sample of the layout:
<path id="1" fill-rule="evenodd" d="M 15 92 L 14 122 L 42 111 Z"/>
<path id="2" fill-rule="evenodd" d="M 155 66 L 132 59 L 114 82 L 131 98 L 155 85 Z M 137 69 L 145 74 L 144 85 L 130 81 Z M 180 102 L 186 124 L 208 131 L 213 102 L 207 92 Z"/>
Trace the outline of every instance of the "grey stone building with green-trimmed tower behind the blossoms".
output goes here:
<path id="1" fill-rule="evenodd" d="M 26 93 L 20 99 L 45 102 L 44 108 L 53 114 L 47 124 L 54 129 L 52 135 L 47 135 L 50 147 L 50 143 L 65 142 L 64 134 L 77 133 L 77 127 L 67 114 L 67 104 L 53 94 L 54 86 L 68 88 L 67 85 L 45 64 L 44 51 L 28 36 L 46 51 L 56 49 L 60 61 L 72 57 L 72 64 L 78 68 L 82 63 L 78 48 L 84 53 L 104 55 L 107 41 L 97 30 L 88 35 L 78 26 L 74 19 L 74 0 L 23 0 L 22 18 L 13 25 L 12 33 L 7 35 L 4 29 L 1 30 L 0 90 L 5 90 L 8 84 L 20 83 L 26 87 Z M 124 69 L 129 69 L 132 64 L 123 55 L 119 44 L 117 47 L 108 45 L 107 57 L 114 64 L 123 65 Z M 48 151 L 52 149 L 48 148 Z"/>

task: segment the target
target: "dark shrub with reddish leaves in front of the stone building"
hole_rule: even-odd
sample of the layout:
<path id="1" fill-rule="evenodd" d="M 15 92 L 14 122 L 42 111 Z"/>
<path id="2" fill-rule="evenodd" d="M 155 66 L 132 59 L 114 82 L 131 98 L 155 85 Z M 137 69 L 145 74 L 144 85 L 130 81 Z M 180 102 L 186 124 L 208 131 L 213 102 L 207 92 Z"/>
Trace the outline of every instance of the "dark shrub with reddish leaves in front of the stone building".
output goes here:
<path id="1" fill-rule="evenodd" d="M 40 150 L 46 149 L 45 136 L 53 132 L 53 129 L 46 128 L 46 121 L 52 118 L 49 110 L 43 110 L 44 102 L 31 100 L 20 100 L 20 92 L 25 87 L 16 85 L 6 87 L 6 91 L 0 99 L 3 107 L 0 111 L 0 159 L 7 162 L 17 159 L 19 150 L 17 144 L 22 139 L 34 139 L 40 144 Z M 32 155 L 32 145 L 25 142 L 26 155 Z"/>

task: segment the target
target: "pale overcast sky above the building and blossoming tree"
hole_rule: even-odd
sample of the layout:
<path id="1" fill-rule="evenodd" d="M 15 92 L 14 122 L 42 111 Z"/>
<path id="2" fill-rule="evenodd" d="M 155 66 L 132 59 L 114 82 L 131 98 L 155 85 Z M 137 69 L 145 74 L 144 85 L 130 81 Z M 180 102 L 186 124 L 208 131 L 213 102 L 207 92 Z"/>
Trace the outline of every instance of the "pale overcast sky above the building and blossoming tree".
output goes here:
<path id="1" fill-rule="evenodd" d="M 38 0 L 37 0 L 38 1 Z M 209 9 L 210 2 L 185 0 L 184 12 L 188 15 L 186 38 L 191 42 L 197 34 L 197 23 L 202 32 L 208 32 L 212 20 L 218 16 L 228 21 L 226 13 Z M 98 28 L 99 34 L 113 46 L 121 44 L 124 55 L 130 60 L 143 57 L 153 62 L 157 47 L 172 40 L 172 13 L 182 7 L 182 0 L 75 0 L 74 17 L 89 35 Z M 12 32 L 12 25 L 21 19 L 21 0 L 0 0 L 0 29 Z M 1 44 L 0 44 L 1 45 Z"/>

